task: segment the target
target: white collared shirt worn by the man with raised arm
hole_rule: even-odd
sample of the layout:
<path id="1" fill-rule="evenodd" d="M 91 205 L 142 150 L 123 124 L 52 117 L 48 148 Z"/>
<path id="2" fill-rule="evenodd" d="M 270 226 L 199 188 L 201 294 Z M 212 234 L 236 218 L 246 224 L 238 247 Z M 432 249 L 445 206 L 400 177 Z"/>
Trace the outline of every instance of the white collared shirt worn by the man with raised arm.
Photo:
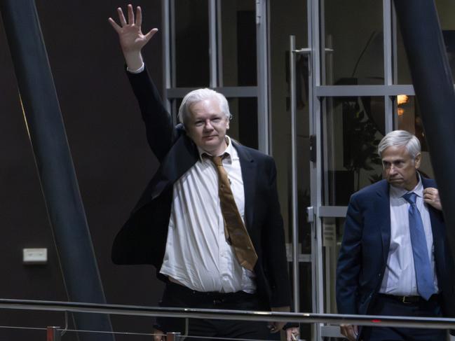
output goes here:
<path id="1" fill-rule="evenodd" d="M 238 211 L 245 222 L 245 193 L 236 148 L 227 137 L 223 167 Z M 174 183 L 168 239 L 161 274 L 196 291 L 231 293 L 256 290 L 254 273 L 241 267 L 226 242 L 219 206 L 218 174 L 208 158 L 200 159 Z"/>

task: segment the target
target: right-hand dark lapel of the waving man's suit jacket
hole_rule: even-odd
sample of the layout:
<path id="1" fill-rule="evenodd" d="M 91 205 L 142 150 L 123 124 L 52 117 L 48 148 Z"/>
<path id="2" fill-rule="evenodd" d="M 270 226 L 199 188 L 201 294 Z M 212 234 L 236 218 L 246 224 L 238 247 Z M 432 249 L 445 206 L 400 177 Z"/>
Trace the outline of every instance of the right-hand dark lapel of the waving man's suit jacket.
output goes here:
<path id="1" fill-rule="evenodd" d="M 245 193 L 245 225 L 248 232 L 250 232 L 254 216 L 254 193 L 256 192 L 254 188 L 256 188 L 257 165 L 246 148 L 236 142 L 233 142 L 233 146 L 236 148 L 240 159 L 240 167 L 242 167 L 243 190 Z"/>

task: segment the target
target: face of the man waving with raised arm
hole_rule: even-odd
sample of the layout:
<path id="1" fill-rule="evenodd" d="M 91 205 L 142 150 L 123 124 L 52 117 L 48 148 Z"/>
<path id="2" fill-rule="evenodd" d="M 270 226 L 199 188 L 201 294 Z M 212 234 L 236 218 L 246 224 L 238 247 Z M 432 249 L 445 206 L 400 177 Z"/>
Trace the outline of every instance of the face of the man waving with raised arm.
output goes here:
<path id="1" fill-rule="evenodd" d="M 229 119 L 219 106 L 217 99 L 204 99 L 190 106 L 186 131 L 194 143 L 204 151 L 219 155 L 226 148 L 226 131 Z"/>

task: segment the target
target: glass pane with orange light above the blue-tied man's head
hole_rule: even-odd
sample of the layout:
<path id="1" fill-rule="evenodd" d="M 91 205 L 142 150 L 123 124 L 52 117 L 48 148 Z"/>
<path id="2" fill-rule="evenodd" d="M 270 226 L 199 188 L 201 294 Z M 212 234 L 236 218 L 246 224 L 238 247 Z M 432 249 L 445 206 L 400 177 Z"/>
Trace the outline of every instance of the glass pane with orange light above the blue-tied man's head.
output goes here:
<path id="1" fill-rule="evenodd" d="M 407 130 L 416 135 L 422 148 L 422 160 L 419 172 L 427 178 L 434 179 L 433 167 L 430 162 L 430 153 L 426 144 L 425 132 L 423 131 L 420 118 L 420 109 L 415 96 L 399 95 L 397 103 L 397 129 Z"/>

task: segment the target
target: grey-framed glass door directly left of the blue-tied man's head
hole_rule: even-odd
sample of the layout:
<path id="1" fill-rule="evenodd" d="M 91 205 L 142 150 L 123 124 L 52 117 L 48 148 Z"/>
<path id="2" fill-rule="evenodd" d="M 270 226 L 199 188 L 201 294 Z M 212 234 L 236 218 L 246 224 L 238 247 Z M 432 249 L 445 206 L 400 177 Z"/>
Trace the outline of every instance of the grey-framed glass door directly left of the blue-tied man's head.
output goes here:
<path id="1" fill-rule="evenodd" d="M 391 1 L 315 0 L 320 23 L 320 79 L 315 84 L 320 231 L 320 312 L 337 313 L 336 267 L 351 195 L 381 179 L 379 140 L 392 129 Z M 387 37 L 385 39 L 384 37 Z M 341 337 L 320 324 L 319 338 Z"/>

